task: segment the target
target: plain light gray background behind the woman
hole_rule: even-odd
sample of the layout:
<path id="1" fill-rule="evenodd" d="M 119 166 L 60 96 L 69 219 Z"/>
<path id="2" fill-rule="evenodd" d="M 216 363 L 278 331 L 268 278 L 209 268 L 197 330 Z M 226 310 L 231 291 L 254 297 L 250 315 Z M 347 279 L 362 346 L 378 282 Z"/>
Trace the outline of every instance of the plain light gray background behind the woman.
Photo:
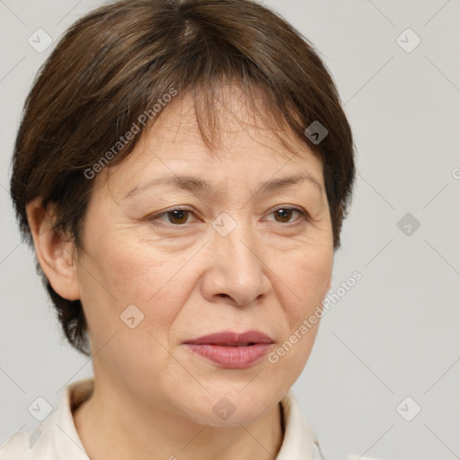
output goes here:
<path id="1" fill-rule="evenodd" d="M 294 385 L 305 418 L 329 458 L 460 458 L 460 2 L 265 3 L 320 51 L 358 148 L 332 292 L 354 270 L 363 278 L 323 317 Z M 37 396 L 54 405 L 64 385 L 92 375 L 91 360 L 59 332 L 7 190 L 33 76 L 63 31 L 99 4 L 0 1 L 0 441 L 37 424 L 27 411 Z M 38 28 L 54 40 L 42 53 L 28 43 Z M 410 53 L 396 41 L 407 28 L 421 39 Z M 397 226 L 406 213 L 420 222 L 411 234 Z M 421 407 L 411 421 L 396 410 L 406 396 Z M 403 404 L 406 417 L 413 402 Z"/>

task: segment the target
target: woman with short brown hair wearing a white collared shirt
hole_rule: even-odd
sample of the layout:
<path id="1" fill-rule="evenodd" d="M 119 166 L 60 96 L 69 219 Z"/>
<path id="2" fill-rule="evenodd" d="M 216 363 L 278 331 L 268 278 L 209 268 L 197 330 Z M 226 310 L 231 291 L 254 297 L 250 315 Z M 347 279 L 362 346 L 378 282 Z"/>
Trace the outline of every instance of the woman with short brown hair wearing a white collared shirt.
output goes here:
<path id="1" fill-rule="evenodd" d="M 321 456 L 290 387 L 354 180 L 332 78 L 251 0 L 105 5 L 28 96 L 11 192 L 94 377 L 15 458 Z"/>

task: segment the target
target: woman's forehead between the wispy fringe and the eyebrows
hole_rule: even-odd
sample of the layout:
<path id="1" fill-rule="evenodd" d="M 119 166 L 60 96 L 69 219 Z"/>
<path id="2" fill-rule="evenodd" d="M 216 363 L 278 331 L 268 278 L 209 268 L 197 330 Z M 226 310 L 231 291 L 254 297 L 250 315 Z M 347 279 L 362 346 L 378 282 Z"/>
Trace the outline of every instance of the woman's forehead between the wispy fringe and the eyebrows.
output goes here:
<path id="1" fill-rule="evenodd" d="M 217 124 L 199 123 L 200 115 L 190 93 L 173 99 L 128 160 L 104 173 L 123 190 L 133 181 L 165 173 L 192 173 L 207 181 L 217 174 L 261 181 L 277 172 L 306 172 L 323 184 L 320 158 L 287 129 L 268 126 L 237 88 L 223 89 L 215 113 Z M 203 128 L 205 136 L 214 134 L 212 146 L 204 140 Z"/>

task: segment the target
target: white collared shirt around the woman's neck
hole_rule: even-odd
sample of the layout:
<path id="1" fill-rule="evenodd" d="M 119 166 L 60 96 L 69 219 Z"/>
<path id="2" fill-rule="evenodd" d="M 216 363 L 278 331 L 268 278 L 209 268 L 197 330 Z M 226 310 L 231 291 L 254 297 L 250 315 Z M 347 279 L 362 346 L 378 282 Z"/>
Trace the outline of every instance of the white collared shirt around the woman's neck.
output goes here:
<path id="1" fill-rule="evenodd" d="M 67 385 L 57 409 L 31 432 L 16 433 L 0 447 L 0 460 L 90 460 L 75 429 L 73 411 L 93 393 L 93 377 Z M 282 399 L 285 434 L 276 460 L 321 460 L 314 430 L 292 390 Z"/>

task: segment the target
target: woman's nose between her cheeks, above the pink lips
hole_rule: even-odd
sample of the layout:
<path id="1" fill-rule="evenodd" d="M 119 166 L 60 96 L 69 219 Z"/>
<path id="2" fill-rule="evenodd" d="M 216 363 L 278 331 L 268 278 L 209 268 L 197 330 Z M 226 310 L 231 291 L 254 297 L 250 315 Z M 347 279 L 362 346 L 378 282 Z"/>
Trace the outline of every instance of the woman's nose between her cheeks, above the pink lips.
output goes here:
<path id="1" fill-rule="evenodd" d="M 263 261 L 262 245 L 242 223 L 226 236 L 213 234 L 201 286 L 208 302 L 250 305 L 270 293 L 270 267 Z"/>

